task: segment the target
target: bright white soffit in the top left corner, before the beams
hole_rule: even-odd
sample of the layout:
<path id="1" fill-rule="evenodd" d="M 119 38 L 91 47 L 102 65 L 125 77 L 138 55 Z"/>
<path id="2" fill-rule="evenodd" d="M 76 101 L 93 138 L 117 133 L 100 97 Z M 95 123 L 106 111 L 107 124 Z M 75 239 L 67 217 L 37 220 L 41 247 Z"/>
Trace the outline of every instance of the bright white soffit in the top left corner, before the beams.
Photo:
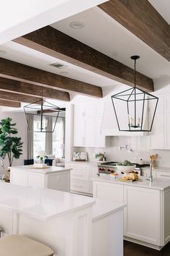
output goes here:
<path id="1" fill-rule="evenodd" d="M 82 12 L 107 0 L 1 1 L 0 43 Z"/>

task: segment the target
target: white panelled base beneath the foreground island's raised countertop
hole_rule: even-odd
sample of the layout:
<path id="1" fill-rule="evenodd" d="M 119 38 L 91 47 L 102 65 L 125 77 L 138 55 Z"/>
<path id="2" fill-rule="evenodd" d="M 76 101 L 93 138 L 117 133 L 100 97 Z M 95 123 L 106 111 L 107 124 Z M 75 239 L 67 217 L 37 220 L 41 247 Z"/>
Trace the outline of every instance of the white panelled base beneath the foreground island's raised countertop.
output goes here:
<path id="1" fill-rule="evenodd" d="M 0 206 L 2 236 L 22 234 L 51 247 L 58 256 L 91 256 L 92 207 L 48 221 Z"/>

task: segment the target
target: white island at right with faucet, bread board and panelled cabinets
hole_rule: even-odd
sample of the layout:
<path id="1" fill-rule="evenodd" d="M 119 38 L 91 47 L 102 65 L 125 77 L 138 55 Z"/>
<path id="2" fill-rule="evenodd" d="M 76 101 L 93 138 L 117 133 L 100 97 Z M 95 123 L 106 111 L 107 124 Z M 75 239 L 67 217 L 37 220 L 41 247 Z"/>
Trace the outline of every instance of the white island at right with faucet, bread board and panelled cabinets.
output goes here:
<path id="1" fill-rule="evenodd" d="M 124 210 L 124 238 L 155 249 L 170 241 L 170 181 L 146 178 L 121 182 L 109 175 L 93 179 L 94 197 L 127 205 Z"/>

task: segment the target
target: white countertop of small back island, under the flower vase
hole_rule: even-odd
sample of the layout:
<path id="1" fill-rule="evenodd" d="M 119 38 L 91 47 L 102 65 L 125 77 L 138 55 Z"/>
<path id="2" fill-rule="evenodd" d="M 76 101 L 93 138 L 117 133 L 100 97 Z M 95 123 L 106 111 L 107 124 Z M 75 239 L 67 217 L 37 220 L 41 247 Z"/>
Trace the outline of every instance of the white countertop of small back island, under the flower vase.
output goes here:
<path id="1" fill-rule="evenodd" d="M 32 168 L 33 166 L 12 166 L 11 171 L 30 171 L 40 174 L 50 174 L 54 172 L 70 171 L 71 168 L 58 167 L 58 166 L 47 166 L 48 168 Z"/>

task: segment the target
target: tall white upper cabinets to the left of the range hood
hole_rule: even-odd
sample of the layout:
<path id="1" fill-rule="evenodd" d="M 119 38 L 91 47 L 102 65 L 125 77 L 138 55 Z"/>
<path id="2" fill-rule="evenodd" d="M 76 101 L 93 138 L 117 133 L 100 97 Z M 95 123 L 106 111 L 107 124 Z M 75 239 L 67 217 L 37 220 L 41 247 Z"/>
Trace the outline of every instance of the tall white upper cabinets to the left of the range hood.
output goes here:
<path id="1" fill-rule="evenodd" d="M 74 106 L 74 146 L 105 147 L 105 137 L 101 131 L 103 108 L 102 101 Z"/>

